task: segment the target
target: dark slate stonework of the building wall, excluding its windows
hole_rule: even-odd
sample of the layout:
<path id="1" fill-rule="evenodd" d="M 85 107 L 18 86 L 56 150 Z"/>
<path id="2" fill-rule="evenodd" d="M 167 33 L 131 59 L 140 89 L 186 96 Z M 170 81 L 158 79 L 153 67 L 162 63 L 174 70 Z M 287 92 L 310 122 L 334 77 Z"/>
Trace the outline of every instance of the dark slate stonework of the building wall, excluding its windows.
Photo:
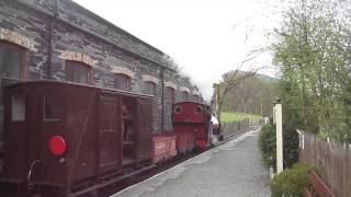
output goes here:
<path id="1" fill-rule="evenodd" d="M 189 80 L 167 68 L 162 51 L 75 2 L 59 0 L 58 9 L 56 10 L 55 7 L 54 0 L 0 1 L 0 28 L 25 37 L 33 46 L 27 49 L 30 57 L 27 80 L 65 80 L 66 59 L 63 57 L 63 51 L 82 54 L 94 62 L 91 68 L 93 85 L 113 88 L 114 73 L 112 70 L 114 67 L 122 67 L 135 73 L 132 79 L 132 91 L 148 93 L 143 74 L 152 76 L 159 81 L 156 99 L 158 117 L 155 119 L 157 126 L 155 132 L 161 132 L 162 118 L 165 121 L 171 117 L 169 108 L 161 117 L 162 72 L 165 81 L 172 81 L 177 84 L 176 101 L 182 101 L 181 86 L 193 90 Z M 49 56 L 50 53 L 52 56 Z M 0 127 L 2 128 L 2 125 Z M 171 130 L 171 128 L 163 124 L 163 130 Z"/>

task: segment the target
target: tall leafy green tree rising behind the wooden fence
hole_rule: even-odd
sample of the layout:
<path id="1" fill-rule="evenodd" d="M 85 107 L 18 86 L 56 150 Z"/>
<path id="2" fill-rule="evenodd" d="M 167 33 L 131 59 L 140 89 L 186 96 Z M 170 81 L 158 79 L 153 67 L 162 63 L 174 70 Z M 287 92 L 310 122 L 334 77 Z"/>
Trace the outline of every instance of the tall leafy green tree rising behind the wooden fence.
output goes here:
<path id="1" fill-rule="evenodd" d="M 299 0 L 275 31 L 274 63 L 290 129 L 351 140 L 344 118 L 351 114 L 350 7 L 344 0 Z"/>

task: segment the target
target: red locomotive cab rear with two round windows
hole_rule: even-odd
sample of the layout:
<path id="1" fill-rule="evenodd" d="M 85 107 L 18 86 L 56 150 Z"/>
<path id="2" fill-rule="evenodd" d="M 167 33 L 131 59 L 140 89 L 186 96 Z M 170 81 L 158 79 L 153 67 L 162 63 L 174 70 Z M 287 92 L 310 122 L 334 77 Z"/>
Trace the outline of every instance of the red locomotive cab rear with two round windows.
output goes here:
<path id="1" fill-rule="evenodd" d="M 177 135 L 177 151 L 205 149 L 210 144 L 210 106 L 195 102 L 179 102 L 172 108 L 173 129 Z"/>

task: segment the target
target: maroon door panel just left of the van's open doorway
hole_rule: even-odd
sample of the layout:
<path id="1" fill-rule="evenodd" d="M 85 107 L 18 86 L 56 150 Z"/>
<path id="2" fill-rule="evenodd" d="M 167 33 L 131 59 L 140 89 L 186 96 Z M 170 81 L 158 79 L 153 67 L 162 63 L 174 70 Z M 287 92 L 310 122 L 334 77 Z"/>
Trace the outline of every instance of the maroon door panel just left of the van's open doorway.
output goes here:
<path id="1" fill-rule="evenodd" d="M 121 166 L 121 97 L 102 94 L 99 103 L 99 172 Z"/>

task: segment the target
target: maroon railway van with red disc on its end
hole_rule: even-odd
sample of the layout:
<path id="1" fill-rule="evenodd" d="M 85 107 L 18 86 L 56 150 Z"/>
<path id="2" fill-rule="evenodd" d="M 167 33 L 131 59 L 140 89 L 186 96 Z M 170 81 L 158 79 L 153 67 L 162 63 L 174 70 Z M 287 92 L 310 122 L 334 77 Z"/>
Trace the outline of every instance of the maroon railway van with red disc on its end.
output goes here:
<path id="1" fill-rule="evenodd" d="M 151 100 L 57 81 L 5 88 L 0 193 L 77 196 L 147 170 Z"/>

